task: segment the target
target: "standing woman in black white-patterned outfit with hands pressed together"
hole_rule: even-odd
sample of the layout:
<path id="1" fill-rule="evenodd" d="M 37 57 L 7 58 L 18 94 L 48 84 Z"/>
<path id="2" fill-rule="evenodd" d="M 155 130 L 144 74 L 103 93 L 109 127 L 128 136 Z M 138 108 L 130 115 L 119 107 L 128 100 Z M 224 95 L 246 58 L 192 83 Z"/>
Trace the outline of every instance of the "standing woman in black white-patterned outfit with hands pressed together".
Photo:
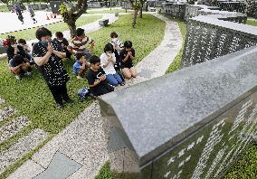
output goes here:
<path id="1" fill-rule="evenodd" d="M 66 53 L 60 51 L 58 43 L 51 41 L 52 33 L 48 29 L 39 28 L 35 35 L 39 42 L 33 44 L 33 60 L 42 72 L 57 108 L 63 108 L 62 100 L 72 102 L 66 88 L 70 78 L 62 64 L 62 58 L 65 58 Z"/>

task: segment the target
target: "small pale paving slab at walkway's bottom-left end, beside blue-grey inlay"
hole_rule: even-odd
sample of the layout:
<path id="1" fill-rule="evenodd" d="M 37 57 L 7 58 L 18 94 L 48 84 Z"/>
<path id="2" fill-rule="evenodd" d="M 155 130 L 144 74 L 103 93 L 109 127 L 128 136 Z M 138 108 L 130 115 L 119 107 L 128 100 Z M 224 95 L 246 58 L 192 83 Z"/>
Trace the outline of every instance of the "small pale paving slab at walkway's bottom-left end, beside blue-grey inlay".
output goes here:
<path id="1" fill-rule="evenodd" d="M 10 174 L 7 179 L 30 179 L 44 170 L 41 165 L 34 163 L 32 160 L 27 160 L 24 165 L 19 167 L 14 174 Z"/>

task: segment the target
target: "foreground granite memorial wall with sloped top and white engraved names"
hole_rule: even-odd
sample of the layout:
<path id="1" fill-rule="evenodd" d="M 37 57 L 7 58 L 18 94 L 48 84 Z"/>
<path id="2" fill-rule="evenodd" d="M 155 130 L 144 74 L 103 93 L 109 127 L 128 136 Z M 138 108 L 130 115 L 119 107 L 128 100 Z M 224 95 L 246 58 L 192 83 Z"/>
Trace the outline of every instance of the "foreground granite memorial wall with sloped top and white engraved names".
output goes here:
<path id="1" fill-rule="evenodd" d="M 254 46 L 101 96 L 111 169 L 143 179 L 224 174 L 257 135 L 256 56 Z"/>

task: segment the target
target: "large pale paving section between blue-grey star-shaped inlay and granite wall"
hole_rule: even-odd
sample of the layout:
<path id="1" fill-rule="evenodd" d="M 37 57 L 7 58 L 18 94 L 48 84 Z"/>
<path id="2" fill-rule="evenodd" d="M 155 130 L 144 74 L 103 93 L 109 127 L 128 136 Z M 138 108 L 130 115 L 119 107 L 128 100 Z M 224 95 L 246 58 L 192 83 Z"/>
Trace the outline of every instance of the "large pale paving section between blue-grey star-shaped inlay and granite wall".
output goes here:
<path id="1" fill-rule="evenodd" d="M 94 175 L 108 159 L 107 137 L 102 125 L 100 106 L 94 101 L 69 127 L 33 155 L 33 161 L 47 167 L 54 153 L 60 151 L 87 168 L 78 174 Z"/>

